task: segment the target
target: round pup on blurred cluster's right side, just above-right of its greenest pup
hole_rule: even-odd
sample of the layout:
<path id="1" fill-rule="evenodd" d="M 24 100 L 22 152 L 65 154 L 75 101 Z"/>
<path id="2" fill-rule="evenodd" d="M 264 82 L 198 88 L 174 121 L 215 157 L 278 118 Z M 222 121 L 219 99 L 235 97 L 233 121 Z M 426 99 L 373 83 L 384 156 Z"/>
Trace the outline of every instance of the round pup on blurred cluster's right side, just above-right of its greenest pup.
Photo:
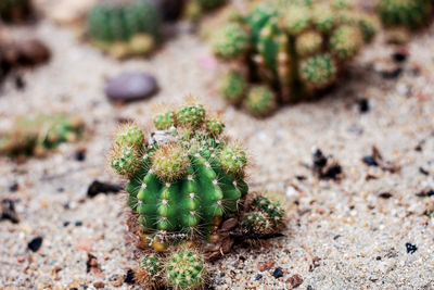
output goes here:
<path id="1" fill-rule="evenodd" d="M 361 30 L 349 25 L 339 27 L 330 37 L 330 50 L 342 61 L 348 61 L 356 56 L 362 45 Z"/>

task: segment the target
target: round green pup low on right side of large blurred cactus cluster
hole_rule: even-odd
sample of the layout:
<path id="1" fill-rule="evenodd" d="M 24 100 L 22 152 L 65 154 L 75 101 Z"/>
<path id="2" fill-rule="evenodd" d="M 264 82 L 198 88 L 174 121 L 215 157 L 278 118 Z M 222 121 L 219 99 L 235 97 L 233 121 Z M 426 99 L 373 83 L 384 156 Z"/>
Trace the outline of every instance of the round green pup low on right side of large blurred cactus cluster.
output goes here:
<path id="1" fill-rule="evenodd" d="M 324 88 L 334 81 L 336 64 L 327 54 L 317 54 L 304 60 L 301 65 L 301 78 L 314 88 Z"/>

